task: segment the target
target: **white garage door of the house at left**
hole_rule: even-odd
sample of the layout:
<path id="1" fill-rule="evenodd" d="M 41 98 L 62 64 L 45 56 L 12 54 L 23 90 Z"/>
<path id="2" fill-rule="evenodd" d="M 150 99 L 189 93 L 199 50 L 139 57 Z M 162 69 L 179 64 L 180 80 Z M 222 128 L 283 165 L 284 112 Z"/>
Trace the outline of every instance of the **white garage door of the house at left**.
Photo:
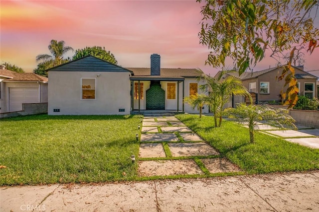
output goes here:
<path id="1" fill-rule="evenodd" d="M 37 87 L 10 87 L 9 88 L 9 110 L 22 110 L 22 103 L 38 103 L 39 92 Z"/>

